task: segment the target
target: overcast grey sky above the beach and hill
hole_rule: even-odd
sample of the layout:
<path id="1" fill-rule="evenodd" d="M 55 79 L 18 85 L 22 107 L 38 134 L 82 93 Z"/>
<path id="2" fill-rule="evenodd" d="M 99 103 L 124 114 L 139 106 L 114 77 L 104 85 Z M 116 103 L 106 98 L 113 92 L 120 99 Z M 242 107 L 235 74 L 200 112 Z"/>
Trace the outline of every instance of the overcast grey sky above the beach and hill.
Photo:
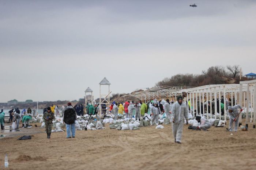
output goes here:
<path id="1" fill-rule="evenodd" d="M 214 65 L 256 72 L 255 30 L 253 0 L 0 0 L 0 102 L 98 98 L 104 77 L 130 93 Z"/>

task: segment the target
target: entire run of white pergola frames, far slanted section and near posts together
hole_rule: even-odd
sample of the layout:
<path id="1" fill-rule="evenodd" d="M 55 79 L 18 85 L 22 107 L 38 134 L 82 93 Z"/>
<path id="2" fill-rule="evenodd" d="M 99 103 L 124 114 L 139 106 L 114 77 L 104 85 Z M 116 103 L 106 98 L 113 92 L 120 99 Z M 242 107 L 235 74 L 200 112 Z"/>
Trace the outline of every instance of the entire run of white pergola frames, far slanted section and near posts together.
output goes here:
<path id="1" fill-rule="evenodd" d="M 219 109 L 219 112 L 221 112 L 221 97 L 223 96 L 224 100 L 227 100 L 231 98 L 231 106 L 233 106 L 233 100 L 234 105 L 240 104 L 246 109 L 246 114 L 248 115 L 249 112 L 249 102 L 251 103 L 251 106 L 255 107 L 255 91 L 256 91 L 256 80 L 252 81 L 241 81 L 240 84 L 217 84 L 217 85 L 205 85 L 205 86 L 199 86 L 195 88 L 191 87 L 170 87 L 170 86 L 156 86 L 148 90 L 144 90 L 141 92 L 136 92 L 133 94 L 128 94 L 125 96 L 134 96 L 139 98 L 140 100 L 150 101 L 151 99 L 157 98 L 159 100 L 165 99 L 165 98 L 173 98 L 178 95 L 182 95 L 182 93 L 187 93 L 187 97 L 184 98 L 187 103 L 191 103 L 191 109 L 190 113 L 195 117 L 196 115 L 199 115 L 199 113 L 205 114 L 205 107 L 204 102 L 210 100 L 210 105 L 208 103 L 206 104 L 206 110 L 207 110 L 207 119 L 211 118 L 213 115 L 212 111 L 212 99 L 214 98 L 214 113 L 217 113 L 217 110 Z M 219 108 L 217 109 L 217 98 L 219 98 Z M 246 98 L 248 100 L 246 100 Z M 237 99 L 239 99 L 239 102 L 237 103 Z M 242 104 L 243 101 L 243 104 Z M 201 104 L 203 102 L 203 108 L 197 108 L 197 102 Z M 210 107 L 210 109 L 209 109 Z M 188 105 L 189 108 L 189 105 Z M 192 109 L 193 108 L 193 109 Z M 192 112 L 196 110 L 195 112 Z M 208 112 L 209 111 L 209 112 Z M 252 111 L 252 109 L 251 109 Z M 226 120 L 226 101 L 224 102 L 224 119 Z M 256 112 L 253 112 L 254 115 Z M 214 114 L 215 119 L 221 119 L 221 113 L 217 117 L 216 114 Z M 246 124 L 248 124 L 249 117 L 246 116 Z M 242 122 L 242 114 L 240 114 L 240 124 Z M 256 116 L 254 116 L 254 119 L 252 120 L 252 114 L 251 114 L 251 121 L 253 121 L 253 127 L 255 127 L 256 123 Z"/>

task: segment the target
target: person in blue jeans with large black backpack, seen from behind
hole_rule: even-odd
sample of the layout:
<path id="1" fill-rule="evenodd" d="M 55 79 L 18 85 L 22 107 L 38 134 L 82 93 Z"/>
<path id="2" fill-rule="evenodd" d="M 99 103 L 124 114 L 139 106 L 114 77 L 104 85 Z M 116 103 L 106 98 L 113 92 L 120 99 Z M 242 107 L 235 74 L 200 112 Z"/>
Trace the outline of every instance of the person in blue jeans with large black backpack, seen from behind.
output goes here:
<path id="1" fill-rule="evenodd" d="M 75 134 L 76 134 L 75 121 L 76 120 L 77 120 L 76 110 L 72 107 L 71 103 L 69 102 L 63 114 L 63 122 L 66 124 L 66 130 L 67 130 L 67 138 L 71 138 L 70 131 L 72 133 L 72 138 L 75 138 Z"/>

